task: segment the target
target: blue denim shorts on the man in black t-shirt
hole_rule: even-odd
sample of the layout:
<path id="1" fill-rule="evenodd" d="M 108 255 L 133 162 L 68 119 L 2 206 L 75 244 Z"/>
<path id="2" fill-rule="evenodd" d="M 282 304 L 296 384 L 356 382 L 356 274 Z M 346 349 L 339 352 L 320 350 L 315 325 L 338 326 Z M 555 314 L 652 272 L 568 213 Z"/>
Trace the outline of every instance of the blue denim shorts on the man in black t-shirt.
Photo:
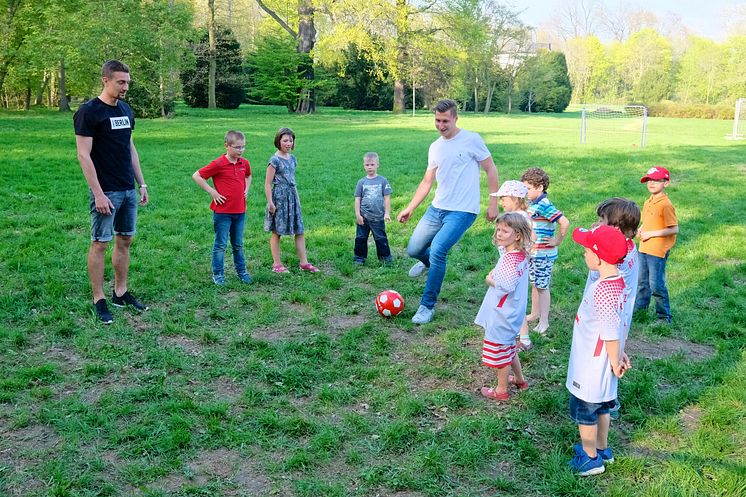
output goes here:
<path id="1" fill-rule="evenodd" d="M 96 210 L 96 199 L 90 194 L 91 210 L 91 241 L 110 242 L 114 235 L 132 236 L 137 225 L 137 205 L 139 199 L 137 191 L 131 190 L 104 192 L 109 197 L 114 208 L 107 216 Z"/>

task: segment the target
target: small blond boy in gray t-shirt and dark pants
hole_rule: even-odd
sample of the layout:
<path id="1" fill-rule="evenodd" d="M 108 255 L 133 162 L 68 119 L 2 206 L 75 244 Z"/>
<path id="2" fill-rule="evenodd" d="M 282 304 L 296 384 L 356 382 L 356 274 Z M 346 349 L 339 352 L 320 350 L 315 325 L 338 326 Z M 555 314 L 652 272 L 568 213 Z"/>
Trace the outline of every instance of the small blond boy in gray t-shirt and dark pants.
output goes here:
<path id="1" fill-rule="evenodd" d="M 384 263 L 392 261 L 385 224 L 391 221 L 391 185 L 386 178 L 378 176 L 378 165 L 377 153 L 365 154 L 365 177 L 360 179 L 355 187 L 355 264 L 364 264 L 368 257 L 368 235 L 371 231 L 376 242 L 378 259 Z"/>

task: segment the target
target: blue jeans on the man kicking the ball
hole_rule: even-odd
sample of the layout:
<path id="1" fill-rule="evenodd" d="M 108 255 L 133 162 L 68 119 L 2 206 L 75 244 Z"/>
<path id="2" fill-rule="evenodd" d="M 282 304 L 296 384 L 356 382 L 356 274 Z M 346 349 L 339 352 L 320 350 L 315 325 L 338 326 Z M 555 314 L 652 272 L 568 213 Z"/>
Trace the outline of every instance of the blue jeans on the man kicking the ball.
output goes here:
<path id="1" fill-rule="evenodd" d="M 409 238 L 407 254 L 430 268 L 420 305 L 428 309 L 435 307 L 446 275 L 448 251 L 461 240 L 476 219 L 477 215 L 471 212 L 447 211 L 431 205 L 417 223 Z"/>

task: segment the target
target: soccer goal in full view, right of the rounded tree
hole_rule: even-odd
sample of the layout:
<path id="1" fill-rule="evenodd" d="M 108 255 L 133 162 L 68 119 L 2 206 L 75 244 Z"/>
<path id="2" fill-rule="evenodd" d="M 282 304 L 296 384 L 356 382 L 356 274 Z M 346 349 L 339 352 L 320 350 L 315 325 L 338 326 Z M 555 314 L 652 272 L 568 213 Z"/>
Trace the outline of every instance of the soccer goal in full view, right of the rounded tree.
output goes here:
<path id="1" fill-rule="evenodd" d="M 593 143 L 616 143 L 645 146 L 648 109 L 644 105 L 583 106 L 580 122 L 580 143 L 588 143 L 590 130 Z"/>

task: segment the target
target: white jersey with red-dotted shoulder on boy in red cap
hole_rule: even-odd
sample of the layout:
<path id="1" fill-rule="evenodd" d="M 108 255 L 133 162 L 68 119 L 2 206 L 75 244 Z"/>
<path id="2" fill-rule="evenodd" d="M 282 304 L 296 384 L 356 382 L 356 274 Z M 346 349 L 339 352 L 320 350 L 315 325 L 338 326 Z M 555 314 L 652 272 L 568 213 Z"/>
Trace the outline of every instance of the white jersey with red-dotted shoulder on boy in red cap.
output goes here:
<path id="1" fill-rule="evenodd" d="M 621 354 L 623 293 L 621 276 L 594 281 L 583 293 L 575 315 L 565 386 L 586 402 L 608 402 L 617 397 L 617 377 L 604 342 L 619 340 Z"/>

